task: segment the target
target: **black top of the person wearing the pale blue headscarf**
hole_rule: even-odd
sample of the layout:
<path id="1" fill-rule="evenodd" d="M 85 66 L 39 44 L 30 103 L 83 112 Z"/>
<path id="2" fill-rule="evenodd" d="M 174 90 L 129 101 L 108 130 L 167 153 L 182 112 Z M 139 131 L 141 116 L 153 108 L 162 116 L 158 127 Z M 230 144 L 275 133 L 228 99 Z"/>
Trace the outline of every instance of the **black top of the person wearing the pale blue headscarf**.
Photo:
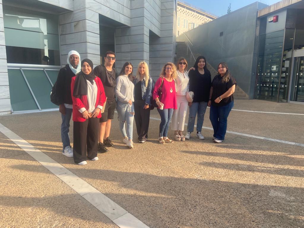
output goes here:
<path id="1" fill-rule="evenodd" d="M 71 81 L 74 76 L 75 74 L 68 64 L 60 69 L 56 84 L 56 95 L 59 104 L 73 104 Z"/>

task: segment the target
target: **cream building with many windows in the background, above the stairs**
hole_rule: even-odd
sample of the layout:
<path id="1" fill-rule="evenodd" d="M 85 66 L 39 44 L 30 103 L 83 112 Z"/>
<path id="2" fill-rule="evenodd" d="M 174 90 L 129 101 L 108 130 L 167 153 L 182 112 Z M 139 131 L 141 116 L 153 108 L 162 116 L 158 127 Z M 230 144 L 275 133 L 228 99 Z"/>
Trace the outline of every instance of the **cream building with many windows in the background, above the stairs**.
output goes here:
<path id="1" fill-rule="evenodd" d="M 177 2 L 176 35 L 179 36 L 190 29 L 216 19 L 217 16 L 197 8 L 185 1 Z"/>

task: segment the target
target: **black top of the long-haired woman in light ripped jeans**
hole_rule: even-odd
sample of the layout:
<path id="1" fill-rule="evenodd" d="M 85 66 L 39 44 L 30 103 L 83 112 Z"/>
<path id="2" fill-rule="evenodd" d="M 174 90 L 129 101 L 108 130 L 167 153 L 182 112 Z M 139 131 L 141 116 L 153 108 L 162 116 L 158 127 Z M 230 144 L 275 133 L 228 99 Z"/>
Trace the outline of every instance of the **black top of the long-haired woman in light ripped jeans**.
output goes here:
<path id="1" fill-rule="evenodd" d="M 211 88 L 211 74 L 209 70 L 200 74 L 197 69 L 189 71 L 189 91 L 194 92 L 193 102 L 208 102 Z"/>

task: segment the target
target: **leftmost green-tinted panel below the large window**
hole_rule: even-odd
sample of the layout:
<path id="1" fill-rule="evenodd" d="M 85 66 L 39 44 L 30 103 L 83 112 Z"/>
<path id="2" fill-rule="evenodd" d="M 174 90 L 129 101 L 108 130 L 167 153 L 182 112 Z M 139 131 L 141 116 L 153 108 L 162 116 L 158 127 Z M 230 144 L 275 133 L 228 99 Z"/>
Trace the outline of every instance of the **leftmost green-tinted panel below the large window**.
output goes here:
<path id="1" fill-rule="evenodd" d="M 14 112 L 37 110 L 38 106 L 19 69 L 8 69 L 9 95 Z"/>

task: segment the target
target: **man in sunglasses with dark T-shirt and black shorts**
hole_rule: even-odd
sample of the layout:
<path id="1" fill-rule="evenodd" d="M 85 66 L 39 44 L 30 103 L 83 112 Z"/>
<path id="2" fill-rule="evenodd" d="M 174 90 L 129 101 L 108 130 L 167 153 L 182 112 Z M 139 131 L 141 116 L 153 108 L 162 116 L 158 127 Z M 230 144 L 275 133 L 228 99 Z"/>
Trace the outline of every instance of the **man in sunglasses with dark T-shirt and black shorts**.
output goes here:
<path id="1" fill-rule="evenodd" d="M 105 89 L 105 95 L 107 101 L 105 103 L 105 111 L 102 113 L 99 119 L 99 143 L 98 151 L 105 153 L 108 151 L 106 147 L 112 147 L 113 143 L 109 139 L 111 130 L 111 120 L 114 118 L 114 111 L 116 108 L 115 100 L 115 86 L 116 78 L 118 77 L 113 64 L 115 63 L 115 53 L 113 51 L 107 51 L 105 53 L 104 66 L 99 65 L 94 68 L 93 72 L 98 76 Z"/>

